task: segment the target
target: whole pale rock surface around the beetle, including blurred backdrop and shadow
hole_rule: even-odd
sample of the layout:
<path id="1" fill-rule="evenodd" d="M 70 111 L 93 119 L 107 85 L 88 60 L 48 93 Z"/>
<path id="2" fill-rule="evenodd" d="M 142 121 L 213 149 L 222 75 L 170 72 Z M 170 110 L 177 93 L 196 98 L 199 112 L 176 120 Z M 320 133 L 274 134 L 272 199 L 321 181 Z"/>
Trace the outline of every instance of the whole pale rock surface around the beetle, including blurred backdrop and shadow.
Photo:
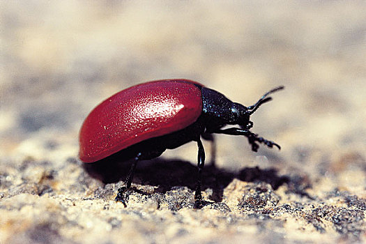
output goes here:
<path id="1" fill-rule="evenodd" d="M 0 243 L 363 243 L 366 5 L 1 1 Z M 79 127 L 128 86 L 184 77 L 252 105 L 245 138 L 194 143 L 139 163 L 77 159 Z M 215 162 L 215 164 L 213 164 Z M 122 180 L 122 181 L 121 181 Z"/>

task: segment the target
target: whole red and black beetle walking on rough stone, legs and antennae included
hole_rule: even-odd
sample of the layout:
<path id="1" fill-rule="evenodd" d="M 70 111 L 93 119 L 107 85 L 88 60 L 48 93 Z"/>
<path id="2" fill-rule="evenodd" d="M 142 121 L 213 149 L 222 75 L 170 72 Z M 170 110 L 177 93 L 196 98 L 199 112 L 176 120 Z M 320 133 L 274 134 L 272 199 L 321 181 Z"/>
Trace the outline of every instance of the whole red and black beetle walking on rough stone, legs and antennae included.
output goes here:
<path id="1" fill-rule="evenodd" d="M 200 205 L 205 161 L 201 137 L 213 139 L 214 133 L 243 135 L 252 151 L 257 152 L 258 143 L 280 149 L 275 142 L 250 131 L 250 116 L 272 100 L 270 93 L 281 89 L 284 86 L 268 91 L 254 105 L 245 107 L 189 79 L 164 79 L 132 86 L 101 102 L 86 117 L 79 132 L 79 158 L 86 163 L 135 158 L 125 185 L 115 198 L 125 205 L 125 193 L 139 160 L 150 160 L 166 149 L 197 142 L 195 202 Z M 238 127 L 223 128 L 225 125 Z"/>

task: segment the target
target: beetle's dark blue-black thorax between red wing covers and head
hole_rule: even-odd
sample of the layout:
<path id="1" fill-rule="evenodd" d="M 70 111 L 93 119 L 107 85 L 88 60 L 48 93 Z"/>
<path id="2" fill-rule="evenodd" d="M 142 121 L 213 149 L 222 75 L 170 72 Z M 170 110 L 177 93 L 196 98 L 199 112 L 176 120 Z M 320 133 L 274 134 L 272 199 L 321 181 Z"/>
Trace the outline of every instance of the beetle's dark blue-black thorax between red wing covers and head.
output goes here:
<path id="1" fill-rule="evenodd" d="M 222 93 L 202 87 L 202 116 L 205 118 L 206 129 L 214 132 L 224 125 L 246 126 L 249 123 L 247 107 L 232 102 Z"/>

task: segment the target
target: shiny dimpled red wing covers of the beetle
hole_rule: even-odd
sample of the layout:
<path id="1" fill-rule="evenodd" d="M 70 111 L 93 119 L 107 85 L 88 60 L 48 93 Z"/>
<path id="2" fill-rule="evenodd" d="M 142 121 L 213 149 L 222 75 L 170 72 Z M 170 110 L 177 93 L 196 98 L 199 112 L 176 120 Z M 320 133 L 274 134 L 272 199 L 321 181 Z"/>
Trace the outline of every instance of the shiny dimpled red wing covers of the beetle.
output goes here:
<path id="1" fill-rule="evenodd" d="M 96 162 L 146 139 L 195 123 L 202 112 L 201 84 L 166 79 L 132 86 L 100 103 L 79 133 L 79 158 Z"/>

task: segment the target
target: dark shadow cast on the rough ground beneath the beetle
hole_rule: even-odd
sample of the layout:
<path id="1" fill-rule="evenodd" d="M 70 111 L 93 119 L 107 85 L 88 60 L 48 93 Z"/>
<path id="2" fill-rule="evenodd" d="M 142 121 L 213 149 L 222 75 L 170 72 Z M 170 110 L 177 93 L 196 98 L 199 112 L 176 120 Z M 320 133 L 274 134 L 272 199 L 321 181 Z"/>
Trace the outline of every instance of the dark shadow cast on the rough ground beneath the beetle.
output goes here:
<path id="1" fill-rule="evenodd" d="M 93 178 L 98 178 L 103 183 L 116 183 L 120 180 L 125 180 L 131 164 L 132 161 L 97 162 L 84 164 L 83 166 L 86 172 Z M 207 188 L 211 188 L 213 190 L 211 200 L 221 202 L 224 189 L 234 178 L 247 182 L 264 181 L 270 184 L 274 190 L 284 183 L 289 183 L 291 180 L 288 176 L 279 176 L 274 168 L 245 167 L 238 173 L 233 173 L 210 164 L 204 167 L 201 190 L 204 191 Z M 197 167 L 183 160 L 165 160 L 163 158 L 144 160 L 138 162 L 132 182 L 157 186 L 158 188 L 155 189 L 155 192 L 163 194 L 178 185 L 195 190 Z"/>

